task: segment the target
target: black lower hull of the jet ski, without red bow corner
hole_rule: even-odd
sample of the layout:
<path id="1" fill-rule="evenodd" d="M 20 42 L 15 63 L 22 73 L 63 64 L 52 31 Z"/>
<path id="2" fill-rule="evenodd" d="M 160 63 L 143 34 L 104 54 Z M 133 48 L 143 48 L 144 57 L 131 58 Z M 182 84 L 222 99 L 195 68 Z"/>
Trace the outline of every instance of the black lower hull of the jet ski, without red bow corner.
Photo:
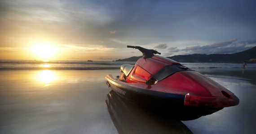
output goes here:
<path id="1" fill-rule="evenodd" d="M 187 106 L 185 105 L 186 95 L 133 87 L 132 84 L 114 79 L 112 75 L 107 75 L 105 78 L 107 80 L 107 85 L 113 89 L 116 94 L 142 108 L 152 111 L 153 113 L 157 112 L 159 114 L 160 112 L 161 114 L 161 111 L 163 110 L 172 110 L 172 113 L 175 111 L 186 115 L 204 116 L 223 109 L 223 107 Z M 190 111 L 189 113 L 187 112 L 188 110 Z M 164 113 L 166 113 L 166 111 Z"/>

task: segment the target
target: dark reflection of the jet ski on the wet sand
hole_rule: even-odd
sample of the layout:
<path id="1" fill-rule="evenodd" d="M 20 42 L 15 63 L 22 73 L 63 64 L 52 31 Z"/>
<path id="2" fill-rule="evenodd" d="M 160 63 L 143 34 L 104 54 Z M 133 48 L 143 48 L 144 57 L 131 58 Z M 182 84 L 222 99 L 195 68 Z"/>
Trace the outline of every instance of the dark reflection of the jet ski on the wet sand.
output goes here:
<path id="1" fill-rule="evenodd" d="M 106 96 L 106 106 L 119 134 L 192 134 L 181 121 L 150 113 L 113 90 Z"/>

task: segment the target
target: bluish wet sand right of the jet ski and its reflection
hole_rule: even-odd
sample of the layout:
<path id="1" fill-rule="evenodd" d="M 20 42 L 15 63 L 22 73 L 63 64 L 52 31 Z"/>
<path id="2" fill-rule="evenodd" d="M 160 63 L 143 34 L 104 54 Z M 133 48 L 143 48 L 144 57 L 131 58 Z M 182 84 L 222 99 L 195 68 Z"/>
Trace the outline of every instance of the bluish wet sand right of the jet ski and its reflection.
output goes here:
<path id="1" fill-rule="evenodd" d="M 196 120 L 182 122 L 194 134 L 255 134 L 256 70 L 245 68 L 197 71 L 233 92 L 240 103 Z"/>

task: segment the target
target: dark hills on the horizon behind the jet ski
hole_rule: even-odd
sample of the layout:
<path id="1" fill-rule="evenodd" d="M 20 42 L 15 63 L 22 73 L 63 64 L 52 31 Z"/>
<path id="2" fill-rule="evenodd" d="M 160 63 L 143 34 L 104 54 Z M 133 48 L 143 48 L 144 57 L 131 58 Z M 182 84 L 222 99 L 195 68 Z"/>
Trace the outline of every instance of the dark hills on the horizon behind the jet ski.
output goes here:
<path id="1" fill-rule="evenodd" d="M 134 61 L 136 62 L 142 56 L 133 56 L 128 59 L 119 59 L 116 61 Z M 175 55 L 167 57 L 177 62 L 185 63 L 256 63 L 256 46 L 242 52 L 234 54 L 189 54 L 189 55 Z"/>

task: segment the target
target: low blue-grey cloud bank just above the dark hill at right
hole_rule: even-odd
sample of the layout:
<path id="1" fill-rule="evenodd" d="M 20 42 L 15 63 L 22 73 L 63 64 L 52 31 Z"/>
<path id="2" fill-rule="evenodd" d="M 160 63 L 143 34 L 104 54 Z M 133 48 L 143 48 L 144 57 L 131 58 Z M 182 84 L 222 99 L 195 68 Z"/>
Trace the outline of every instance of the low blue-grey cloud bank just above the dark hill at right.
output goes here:
<path id="1" fill-rule="evenodd" d="M 256 42 L 256 40 L 243 41 L 243 43 L 236 41 L 237 39 L 231 39 L 229 41 L 217 42 L 206 46 L 189 46 L 182 51 L 189 51 L 187 54 L 231 54 L 248 50 L 253 46 L 246 45 Z"/>

